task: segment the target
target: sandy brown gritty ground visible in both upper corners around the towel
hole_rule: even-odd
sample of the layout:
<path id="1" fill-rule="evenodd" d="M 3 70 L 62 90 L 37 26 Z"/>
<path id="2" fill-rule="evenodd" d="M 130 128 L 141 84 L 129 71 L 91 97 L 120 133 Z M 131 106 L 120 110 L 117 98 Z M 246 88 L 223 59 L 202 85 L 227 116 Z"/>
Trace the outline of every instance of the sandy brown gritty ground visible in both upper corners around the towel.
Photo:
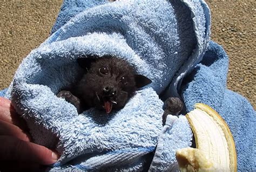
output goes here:
<path id="1" fill-rule="evenodd" d="M 230 56 L 227 87 L 256 108 L 256 1 L 207 0 L 212 39 Z M 48 36 L 62 1 L 0 0 L 0 89 L 8 87 L 19 63 Z"/>

